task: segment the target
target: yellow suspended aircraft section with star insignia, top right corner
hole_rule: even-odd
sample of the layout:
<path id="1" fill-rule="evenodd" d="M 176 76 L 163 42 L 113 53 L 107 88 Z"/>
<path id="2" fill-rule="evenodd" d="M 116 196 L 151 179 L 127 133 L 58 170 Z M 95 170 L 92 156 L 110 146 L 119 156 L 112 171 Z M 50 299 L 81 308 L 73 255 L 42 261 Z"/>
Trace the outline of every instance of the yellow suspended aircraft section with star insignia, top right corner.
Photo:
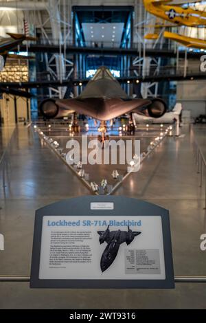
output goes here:
<path id="1" fill-rule="evenodd" d="M 179 5 L 169 5 L 171 0 L 144 0 L 144 6 L 150 14 L 177 25 L 196 27 L 206 25 L 206 12 L 192 8 L 181 8 Z"/>

